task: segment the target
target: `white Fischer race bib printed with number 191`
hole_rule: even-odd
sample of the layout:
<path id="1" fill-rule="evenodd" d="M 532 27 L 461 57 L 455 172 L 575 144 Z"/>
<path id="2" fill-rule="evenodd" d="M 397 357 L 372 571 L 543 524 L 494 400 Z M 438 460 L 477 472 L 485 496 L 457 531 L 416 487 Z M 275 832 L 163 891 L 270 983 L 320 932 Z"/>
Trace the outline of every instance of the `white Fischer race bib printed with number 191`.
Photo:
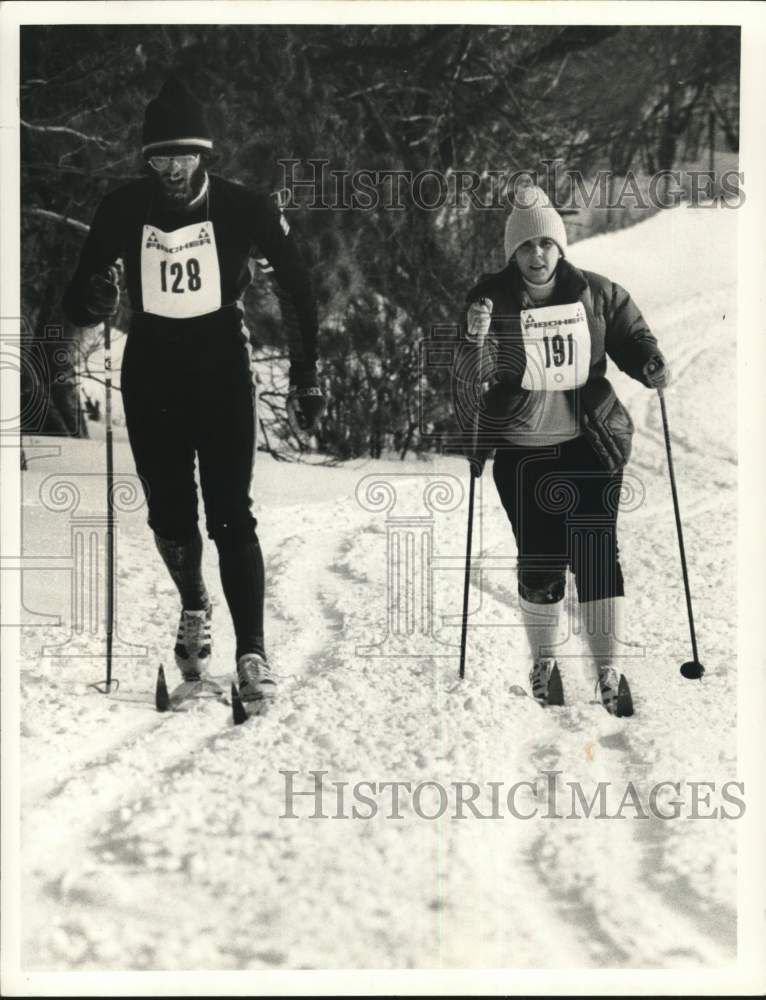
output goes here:
<path id="1" fill-rule="evenodd" d="M 582 302 L 522 309 L 526 367 L 523 389 L 557 392 L 588 381 L 590 330 Z"/>

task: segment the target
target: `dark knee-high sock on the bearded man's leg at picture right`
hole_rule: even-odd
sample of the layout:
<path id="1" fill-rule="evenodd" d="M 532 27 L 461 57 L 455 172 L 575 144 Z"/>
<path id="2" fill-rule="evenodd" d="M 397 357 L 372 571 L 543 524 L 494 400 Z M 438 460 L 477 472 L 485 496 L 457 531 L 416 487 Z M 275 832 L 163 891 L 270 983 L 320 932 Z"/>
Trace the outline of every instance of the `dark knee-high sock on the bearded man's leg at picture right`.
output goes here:
<path id="1" fill-rule="evenodd" d="M 265 572 L 258 540 L 216 539 L 221 584 L 237 637 L 237 659 L 266 655 L 263 638 Z"/>

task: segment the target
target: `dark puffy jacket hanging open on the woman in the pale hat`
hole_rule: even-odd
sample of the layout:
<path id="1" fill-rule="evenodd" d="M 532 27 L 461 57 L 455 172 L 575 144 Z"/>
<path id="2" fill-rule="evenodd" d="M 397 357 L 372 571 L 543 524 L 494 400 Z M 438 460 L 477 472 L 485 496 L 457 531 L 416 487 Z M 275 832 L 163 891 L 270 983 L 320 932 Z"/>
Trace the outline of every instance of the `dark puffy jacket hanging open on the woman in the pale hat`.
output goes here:
<path id="1" fill-rule="evenodd" d="M 471 289 L 467 305 L 492 300 L 490 327 L 490 384 L 485 413 L 494 432 L 498 420 L 513 427 L 514 414 L 523 411 L 528 391 L 521 388 L 526 355 L 521 332 L 524 283 L 515 263 L 482 277 Z M 590 371 L 585 385 L 567 390 L 583 433 L 609 469 L 620 468 L 630 455 L 633 424 L 606 378 L 607 355 L 632 378 L 645 383 L 643 369 L 653 357 L 662 357 L 657 340 L 628 292 L 592 271 L 581 271 L 566 259 L 559 261 L 556 286 L 549 305 L 580 301 L 591 337 Z M 485 430 L 488 429 L 488 426 Z M 486 440 L 486 435 L 484 440 Z M 497 439 L 502 445 L 502 434 Z"/>

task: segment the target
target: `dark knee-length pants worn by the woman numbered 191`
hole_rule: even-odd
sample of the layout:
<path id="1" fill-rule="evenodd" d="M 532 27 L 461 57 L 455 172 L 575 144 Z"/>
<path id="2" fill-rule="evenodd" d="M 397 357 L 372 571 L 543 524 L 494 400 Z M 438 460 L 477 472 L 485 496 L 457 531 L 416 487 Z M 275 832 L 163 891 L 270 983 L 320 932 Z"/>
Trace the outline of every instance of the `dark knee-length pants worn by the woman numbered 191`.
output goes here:
<path id="1" fill-rule="evenodd" d="M 625 593 L 617 547 L 622 472 L 606 472 L 585 438 L 499 449 L 493 474 L 516 538 L 522 597 L 561 600 L 567 567 L 580 601 Z"/>

